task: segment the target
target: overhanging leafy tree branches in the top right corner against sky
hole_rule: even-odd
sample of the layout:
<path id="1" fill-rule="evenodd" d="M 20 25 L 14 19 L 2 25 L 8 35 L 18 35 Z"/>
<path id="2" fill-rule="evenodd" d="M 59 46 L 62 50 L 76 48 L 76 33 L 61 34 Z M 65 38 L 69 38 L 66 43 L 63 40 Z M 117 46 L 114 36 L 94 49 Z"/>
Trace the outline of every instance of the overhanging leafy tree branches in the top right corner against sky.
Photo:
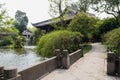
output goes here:
<path id="1" fill-rule="evenodd" d="M 94 10 L 113 15 L 120 26 L 120 0 L 91 0 L 91 4 Z"/>

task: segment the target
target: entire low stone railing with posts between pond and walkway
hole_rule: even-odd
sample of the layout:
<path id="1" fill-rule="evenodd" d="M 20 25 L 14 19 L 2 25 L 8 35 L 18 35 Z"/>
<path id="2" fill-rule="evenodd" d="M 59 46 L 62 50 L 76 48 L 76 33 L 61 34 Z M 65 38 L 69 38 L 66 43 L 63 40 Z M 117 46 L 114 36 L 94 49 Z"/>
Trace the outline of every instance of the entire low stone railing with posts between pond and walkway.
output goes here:
<path id="1" fill-rule="evenodd" d="M 37 80 L 57 68 L 68 69 L 70 65 L 83 56 L 82 49 L 69 54 L 68 50 L 55 52 L 56 56 L 49 58 L 39 64 L 17 72 L 16 68 L 4 69 L 0 67 L 0 80 Z M 8 73 L 7 73 L 8 72 Z"/>

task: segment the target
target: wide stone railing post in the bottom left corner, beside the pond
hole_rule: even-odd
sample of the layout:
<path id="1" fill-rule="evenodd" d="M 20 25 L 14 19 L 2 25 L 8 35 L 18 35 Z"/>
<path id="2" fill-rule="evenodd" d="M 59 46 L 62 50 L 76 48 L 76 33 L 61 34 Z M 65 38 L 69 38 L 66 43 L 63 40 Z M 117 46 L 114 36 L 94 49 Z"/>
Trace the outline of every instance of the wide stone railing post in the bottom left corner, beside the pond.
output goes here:
<path id="1" fill-rule="evenodd" d="M 4 80 L 21 80 L 21 76 L 18 75 L 17 68 L 5 68 Z"/>

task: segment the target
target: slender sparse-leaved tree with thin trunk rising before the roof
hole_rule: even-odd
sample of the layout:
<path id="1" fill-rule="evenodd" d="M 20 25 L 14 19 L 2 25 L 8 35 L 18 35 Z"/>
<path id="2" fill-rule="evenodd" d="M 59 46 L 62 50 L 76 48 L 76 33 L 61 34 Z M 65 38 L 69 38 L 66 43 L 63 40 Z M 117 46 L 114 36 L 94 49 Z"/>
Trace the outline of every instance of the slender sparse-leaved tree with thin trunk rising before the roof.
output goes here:
<path id="1" fill-rule="evenodd" d="M 53 17 L 56 17 L 56 15 L 59 16 L 61 26 L 65 27 L 64 24 L 64 17 L 63 17 L 63 11 L 68 5 L 70 0 L 49 0 L 50 2 L 50 15 Z"/>

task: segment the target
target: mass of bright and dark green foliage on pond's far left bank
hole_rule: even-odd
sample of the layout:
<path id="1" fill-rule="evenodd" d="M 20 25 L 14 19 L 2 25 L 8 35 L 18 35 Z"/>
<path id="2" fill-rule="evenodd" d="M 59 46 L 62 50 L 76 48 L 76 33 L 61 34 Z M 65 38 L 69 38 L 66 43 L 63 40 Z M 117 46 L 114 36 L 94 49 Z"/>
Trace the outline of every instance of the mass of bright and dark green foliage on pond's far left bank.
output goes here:
<path id="1" fill-rule="evenodd" d="M 0 28 L 1 35 L 0 46 L 9 46 L 14 48 L 23 47 L 23 39 L 19 38 L 19 31 L 15 27 Z"/>

